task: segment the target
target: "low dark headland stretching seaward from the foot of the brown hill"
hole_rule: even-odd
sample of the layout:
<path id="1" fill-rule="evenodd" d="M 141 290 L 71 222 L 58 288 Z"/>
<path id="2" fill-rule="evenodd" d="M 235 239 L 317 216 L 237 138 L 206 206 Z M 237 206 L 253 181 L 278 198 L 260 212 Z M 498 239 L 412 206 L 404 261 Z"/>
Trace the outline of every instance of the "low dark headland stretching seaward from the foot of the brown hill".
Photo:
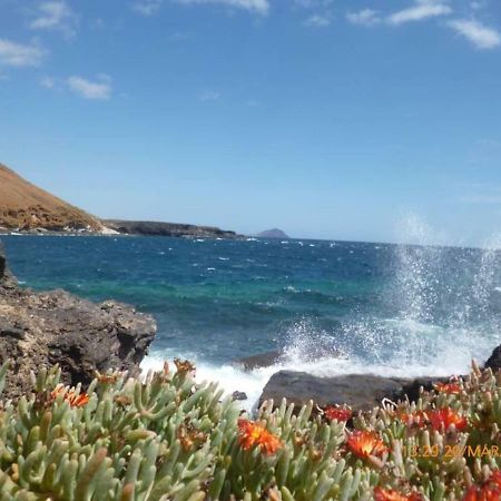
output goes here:
<path id="1" fill-rule="evenodd" d="M 212 226 L 118 219 L 108 219 L 104 223 L 107 227 L 126 235 L 150 235 L 184 238 L 238 238 L 238 235 L 235 232 L 228 232 Z"/>

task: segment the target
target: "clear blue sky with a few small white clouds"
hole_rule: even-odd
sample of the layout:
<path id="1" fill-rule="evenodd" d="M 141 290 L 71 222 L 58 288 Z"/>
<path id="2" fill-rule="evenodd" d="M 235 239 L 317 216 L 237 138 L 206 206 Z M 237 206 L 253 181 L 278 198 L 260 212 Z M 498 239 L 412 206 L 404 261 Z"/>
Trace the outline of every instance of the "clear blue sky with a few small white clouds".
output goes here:
<path id="1" fill-rule="evenodd" d="M 0 0 L 0 163 L 101 217 L 501 234 L 499 0 Z"/>

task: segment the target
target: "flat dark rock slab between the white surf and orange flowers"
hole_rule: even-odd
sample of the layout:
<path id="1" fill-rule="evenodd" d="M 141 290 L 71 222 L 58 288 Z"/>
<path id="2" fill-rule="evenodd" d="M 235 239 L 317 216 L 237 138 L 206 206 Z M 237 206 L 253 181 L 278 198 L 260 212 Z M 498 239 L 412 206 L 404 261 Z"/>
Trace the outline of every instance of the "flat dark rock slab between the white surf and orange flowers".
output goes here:
<path id="1" fill-rule="evenodd" d="M 259 404 L 272 400 L 279 405 L 282 399 L 297 405 L 313 400 L 317 405 L 347 404 L 354 411 L 367 411 L 384 397 L 399 400 L 419 397 L 420 387 L 430 390 L 444 379 L 406 380 L 371 374 L 350 374 L 318 377 L 304 372 L 282 371 L 272 376 L 263 390 Z"/>

